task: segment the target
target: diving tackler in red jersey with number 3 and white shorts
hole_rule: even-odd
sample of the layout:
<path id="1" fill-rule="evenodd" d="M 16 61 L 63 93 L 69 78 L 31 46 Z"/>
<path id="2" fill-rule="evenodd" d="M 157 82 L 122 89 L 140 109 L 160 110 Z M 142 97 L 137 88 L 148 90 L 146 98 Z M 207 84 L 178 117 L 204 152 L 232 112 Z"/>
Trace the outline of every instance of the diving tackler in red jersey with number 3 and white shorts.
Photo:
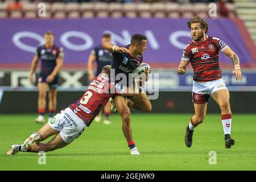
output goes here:
<path id="1" fill-rule="evenodd" d="M 19 151 L 47 152 L 65 147 L 73 142 L 74 139 L 79 138 L 86 126 L 90 126 L 110 97 L 116 94 L 123 94 L 124 96 L 138 95 L 136 83 L 134 83 L 133 90 L 128 90 L 125 86 L 111 83 L 109 75 L 110 65 L 106 65 L 102 68 L 101 74 L 89 84 L 88 89 L 79 101 L 56 114 L 38 132 L 31 134 L 23 144 L 13 144 L 7 155 L 15 155 Z M 49 142 L 39 143 L 52 135 L 56 136 Z M 132 155 L 139 154 L 136 147 L 130 153 Z"/>

